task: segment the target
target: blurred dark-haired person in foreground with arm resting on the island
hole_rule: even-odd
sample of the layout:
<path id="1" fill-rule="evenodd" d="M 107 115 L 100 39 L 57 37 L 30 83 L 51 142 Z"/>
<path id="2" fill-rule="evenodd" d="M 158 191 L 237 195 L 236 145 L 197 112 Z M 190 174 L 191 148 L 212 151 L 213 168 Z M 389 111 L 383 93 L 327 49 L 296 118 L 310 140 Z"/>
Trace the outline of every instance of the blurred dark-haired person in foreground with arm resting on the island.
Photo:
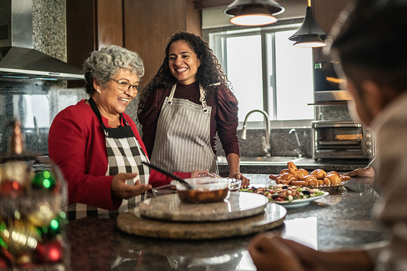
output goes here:
<path id="1" fill-rule="evenodd" d="M 322 252 L 261 234 L 248 248 L 258 270 L 407 270 L 407 50 L 400 40 L 406 15 L 405 0 L 355 2 L 339 15 L 342 27 L 331 45 L 361 121 L 377 134 L 376 182 L 386 193 L 374 214 L 389 240 Z"/>

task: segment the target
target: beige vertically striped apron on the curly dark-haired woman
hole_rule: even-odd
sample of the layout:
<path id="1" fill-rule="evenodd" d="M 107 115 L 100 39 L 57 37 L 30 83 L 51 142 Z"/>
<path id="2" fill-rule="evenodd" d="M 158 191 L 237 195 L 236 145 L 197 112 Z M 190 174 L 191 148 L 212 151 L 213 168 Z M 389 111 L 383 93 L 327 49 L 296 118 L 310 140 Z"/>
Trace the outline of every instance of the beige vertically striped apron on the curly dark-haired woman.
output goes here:
<path id="1" fill-rule="evenodd" d="M 219 174 L 210 141 L 211 106 L 199 85 L 199 101 L 173 98 L 177 83 L 165 97 L 157 122 L 151 163 L 170 172 L 209 169 Z"/>

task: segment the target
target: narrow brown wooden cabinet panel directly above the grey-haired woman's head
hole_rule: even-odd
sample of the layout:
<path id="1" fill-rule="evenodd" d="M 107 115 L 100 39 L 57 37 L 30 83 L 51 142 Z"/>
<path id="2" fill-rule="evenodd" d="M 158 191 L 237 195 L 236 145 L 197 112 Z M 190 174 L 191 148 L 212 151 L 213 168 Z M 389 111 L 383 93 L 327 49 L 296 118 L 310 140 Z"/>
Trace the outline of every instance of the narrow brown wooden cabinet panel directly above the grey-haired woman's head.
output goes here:
<path id="1" fill-rule="evenodd" d="M 123 1 L 98 0 L 98 49 L 114 44 L 123 46 Z"/>

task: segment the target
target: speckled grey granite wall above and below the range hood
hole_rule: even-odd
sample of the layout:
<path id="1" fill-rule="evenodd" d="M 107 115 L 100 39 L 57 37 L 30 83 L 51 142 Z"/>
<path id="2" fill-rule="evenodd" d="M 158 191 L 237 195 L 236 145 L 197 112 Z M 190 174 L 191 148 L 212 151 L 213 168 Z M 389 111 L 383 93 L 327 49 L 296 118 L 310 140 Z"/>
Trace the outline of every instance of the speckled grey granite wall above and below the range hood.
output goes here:
<path id="1" fill-rule="evenodd" d="M 33 47 L 62 61 L 67 60 L 65 4 L 65 0 L 33 1 Z M 66 81 L 0 80 L 0 153 L 6 151 L 10 137 L 7 124 L 17 118 L 23 124 L 26 150 L 47 154 L 52 119 L 84 97 L 83 89 L 67 89 Z"/>

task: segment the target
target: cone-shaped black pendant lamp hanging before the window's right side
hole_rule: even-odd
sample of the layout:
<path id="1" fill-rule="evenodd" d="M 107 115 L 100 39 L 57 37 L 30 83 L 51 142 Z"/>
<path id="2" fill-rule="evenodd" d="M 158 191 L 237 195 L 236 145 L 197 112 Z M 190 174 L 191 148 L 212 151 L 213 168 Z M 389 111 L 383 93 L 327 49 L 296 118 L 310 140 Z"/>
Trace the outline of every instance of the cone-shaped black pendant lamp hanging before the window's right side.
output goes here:
<path id="1" fill-rule="evenodd" d="M 307 12 L 305 14 L 304 21 L 300 28 L 293 36 L 289 37 L 290 41 L 295 41 L 296 47 L 322 47 L 327 45 L 326 39 L 331 38 L 321 26 L 318 25 L 314 18 L 314 14 L 311 8 L 311 0 L 308 0 Z"/>

